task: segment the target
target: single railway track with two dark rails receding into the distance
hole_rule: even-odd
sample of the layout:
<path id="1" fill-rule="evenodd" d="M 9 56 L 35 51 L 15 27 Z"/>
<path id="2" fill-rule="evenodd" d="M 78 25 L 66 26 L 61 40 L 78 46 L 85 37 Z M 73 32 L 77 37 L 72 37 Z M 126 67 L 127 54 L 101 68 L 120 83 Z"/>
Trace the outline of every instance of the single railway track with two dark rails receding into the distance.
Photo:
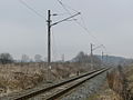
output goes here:
<path id="1" fill-rule="evenodd" d="M 102 68 L 100 70 L 88 72 L 76 78 L 72 78 L 66 81 L 52 84 L 48 88 L 42 88 L 42 89 L 33 90 L 31 92 L 7 97 L 0 100 L 58 100 L 69 91 L 75 89 L 85 81 L 108 71 L 109 69 L 110 68 L 108 69 Z"/>

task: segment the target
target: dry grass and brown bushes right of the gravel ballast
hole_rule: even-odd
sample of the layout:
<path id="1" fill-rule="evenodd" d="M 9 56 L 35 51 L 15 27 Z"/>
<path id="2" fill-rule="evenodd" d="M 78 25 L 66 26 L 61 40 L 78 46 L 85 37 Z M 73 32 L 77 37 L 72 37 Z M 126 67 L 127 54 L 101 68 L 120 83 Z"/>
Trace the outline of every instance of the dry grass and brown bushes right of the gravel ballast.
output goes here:
<path id="1" fill-rule="evenodd" d="M 133 66 L 113 69 L 100 91 L 88 100 L 133 100 Z"/>

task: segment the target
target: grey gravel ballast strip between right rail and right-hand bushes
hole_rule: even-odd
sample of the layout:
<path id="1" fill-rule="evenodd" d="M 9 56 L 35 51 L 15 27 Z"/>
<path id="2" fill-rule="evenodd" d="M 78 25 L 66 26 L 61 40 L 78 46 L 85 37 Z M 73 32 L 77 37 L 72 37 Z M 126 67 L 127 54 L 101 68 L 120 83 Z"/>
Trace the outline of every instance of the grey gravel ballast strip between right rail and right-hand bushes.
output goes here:
<path id="1" fill-rule="evenodd" d="M 106 72 L 90 79 L 85 83 L 81 84 L 78 89 L 71 91 L 68 96 L 61 100 L 86 100 L 91 94 L 99 91 L 100 87 L 104 83 Z"/>

